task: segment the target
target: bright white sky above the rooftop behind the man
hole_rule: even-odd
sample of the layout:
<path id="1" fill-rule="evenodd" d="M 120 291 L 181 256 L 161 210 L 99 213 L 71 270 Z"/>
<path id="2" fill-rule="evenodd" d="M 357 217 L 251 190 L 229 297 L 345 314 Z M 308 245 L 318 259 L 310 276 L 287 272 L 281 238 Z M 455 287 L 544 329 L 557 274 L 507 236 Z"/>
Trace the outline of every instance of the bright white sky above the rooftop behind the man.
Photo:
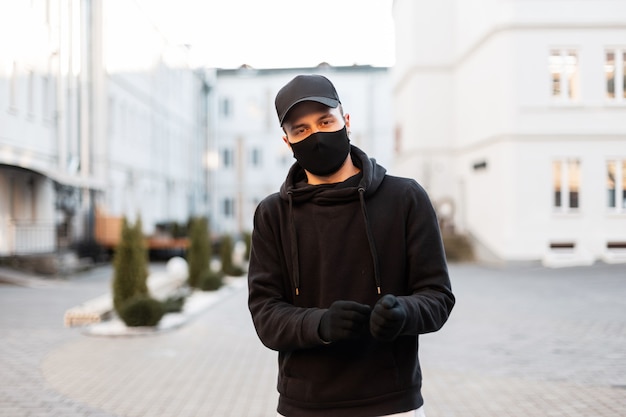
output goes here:
<path id="1" fill-rule="evenodd" d="M 392 0 L 134 0 L 195 66 L 392 66 Z"/>

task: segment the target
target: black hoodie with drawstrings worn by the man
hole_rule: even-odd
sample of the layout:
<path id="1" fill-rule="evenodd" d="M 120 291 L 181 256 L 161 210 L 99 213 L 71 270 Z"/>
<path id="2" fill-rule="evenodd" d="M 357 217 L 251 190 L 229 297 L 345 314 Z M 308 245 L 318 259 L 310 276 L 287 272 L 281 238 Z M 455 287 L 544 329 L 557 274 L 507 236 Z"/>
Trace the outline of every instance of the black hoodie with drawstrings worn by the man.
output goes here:
<path id="1" fill-rule="evenodd" d="M 287 417 L 367 417 L 419 408 L 418 335 L 454 305 L 437 218 L 424 189 L 386 175 L 355 146 L 361 172 L 309 185 L 298 163 L 254 216 L 248 305 L 259 338 L 279 352 L 278 411 Z M 401 335 L 325 344 L 320 319 L 336 300 L 374 306 L 394 294 Z"/>

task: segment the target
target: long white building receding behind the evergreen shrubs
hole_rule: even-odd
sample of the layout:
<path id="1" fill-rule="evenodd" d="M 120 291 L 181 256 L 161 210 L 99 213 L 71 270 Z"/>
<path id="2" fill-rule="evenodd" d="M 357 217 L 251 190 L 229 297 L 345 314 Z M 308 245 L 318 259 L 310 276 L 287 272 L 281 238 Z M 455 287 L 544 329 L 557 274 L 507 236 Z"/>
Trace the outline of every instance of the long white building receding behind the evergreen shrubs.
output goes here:
<path id="1" fill-rule="evenodd" d="M 106 186 L 98 206 L 141 215 L 146 234 L 208 216 L 212 73 L 191 69 L 186 49 L 169 44 L 134 2 L 107 0 L 103 12 Z"/>

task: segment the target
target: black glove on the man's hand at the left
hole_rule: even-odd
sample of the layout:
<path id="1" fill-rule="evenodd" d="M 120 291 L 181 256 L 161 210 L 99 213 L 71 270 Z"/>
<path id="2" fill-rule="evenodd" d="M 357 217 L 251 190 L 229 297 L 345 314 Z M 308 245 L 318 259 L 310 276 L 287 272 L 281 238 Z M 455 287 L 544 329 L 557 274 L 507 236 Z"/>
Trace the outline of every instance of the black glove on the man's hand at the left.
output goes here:
<path id="1" fill-rule="evenodd" d="M 322 315 L 319 334 L 325 342 L 358 339 L 367 334 L 371 308 L 356 301 L 335 301 Z"/>

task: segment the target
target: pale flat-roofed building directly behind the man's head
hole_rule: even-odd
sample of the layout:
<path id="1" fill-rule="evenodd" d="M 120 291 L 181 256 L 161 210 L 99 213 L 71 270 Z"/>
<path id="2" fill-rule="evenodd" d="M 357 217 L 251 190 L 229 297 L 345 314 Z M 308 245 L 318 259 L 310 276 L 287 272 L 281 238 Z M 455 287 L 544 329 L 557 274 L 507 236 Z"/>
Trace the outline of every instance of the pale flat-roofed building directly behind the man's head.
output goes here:
<path id="1" fill-rule="evenodd" d="M 252 231 L 257 204 L 277 192 L 295 162 L 283 142 L 274 98 L 298 74 L 322 74 L 335 85 L 350 114 L 351 142 L 390 168 L 393 156 L 390 78 L 387 68 L 371 66 L 256 70 L 242 66 L 218 70 L 215 127 L 216 158 L 212 189 L 212 230 Z"/>

